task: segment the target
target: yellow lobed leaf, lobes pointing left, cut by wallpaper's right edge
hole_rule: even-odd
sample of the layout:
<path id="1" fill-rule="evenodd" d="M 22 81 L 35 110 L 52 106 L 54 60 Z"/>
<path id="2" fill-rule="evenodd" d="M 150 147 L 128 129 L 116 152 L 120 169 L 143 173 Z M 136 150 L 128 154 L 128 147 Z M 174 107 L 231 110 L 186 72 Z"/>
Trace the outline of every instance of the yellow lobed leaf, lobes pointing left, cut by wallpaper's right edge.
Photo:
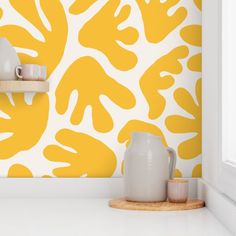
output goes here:
<path id="1" fill-rule="evenodd" d="M 195 103 L 192 95 L 183 88 L 175 91 L 174 97 L 180 107 L 191 114 L 193 118 L 180 115 L 171 115 L 166 118 L 166 127 L 173 133 L 194 133 L 194 137 L 182 142 L 178 147 L 179 157 L 182 159 L 192 159 L 201 154 L 202 149 L 202 98 L 201 79 L 196 83 Z"/>

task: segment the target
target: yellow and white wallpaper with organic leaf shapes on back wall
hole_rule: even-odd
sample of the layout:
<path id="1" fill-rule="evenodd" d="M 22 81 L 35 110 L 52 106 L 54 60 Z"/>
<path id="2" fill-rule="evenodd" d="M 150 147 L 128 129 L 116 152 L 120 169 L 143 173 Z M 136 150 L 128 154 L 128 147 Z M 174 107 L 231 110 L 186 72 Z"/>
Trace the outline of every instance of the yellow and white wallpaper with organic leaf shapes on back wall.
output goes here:
<path id="1" fill-rule="evenodd" d="M 201 175 L 200 0 L 2 0 L 0 37 L 48 94 L 0 94 L 0 176 L 121 176 L 132 131 Z"/>

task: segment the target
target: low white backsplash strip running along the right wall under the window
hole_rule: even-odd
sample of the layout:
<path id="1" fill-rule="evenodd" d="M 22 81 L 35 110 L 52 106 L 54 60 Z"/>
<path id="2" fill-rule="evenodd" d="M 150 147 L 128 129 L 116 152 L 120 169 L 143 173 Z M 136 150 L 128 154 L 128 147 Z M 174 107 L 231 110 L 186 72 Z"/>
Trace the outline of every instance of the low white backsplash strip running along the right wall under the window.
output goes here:
<path id="1" fill-rule="evenodd" d="M 206 203 L 206 207 L 218 218 L 233 235 L 236 235 L 236 203 L 213 188 L 206 181 L 198 181 L 198 198 Z"/>

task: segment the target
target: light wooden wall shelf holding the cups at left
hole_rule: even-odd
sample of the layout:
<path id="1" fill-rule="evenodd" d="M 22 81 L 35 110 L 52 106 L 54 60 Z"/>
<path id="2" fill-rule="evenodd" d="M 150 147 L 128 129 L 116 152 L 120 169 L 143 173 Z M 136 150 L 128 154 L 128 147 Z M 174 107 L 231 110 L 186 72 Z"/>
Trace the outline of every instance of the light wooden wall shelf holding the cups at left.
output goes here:
<path id="1" fill-rule="evenodd" d="M 49 83 L 47 81 L 0 81 L 0 93 L 46 93 L 49 91 Z"/>

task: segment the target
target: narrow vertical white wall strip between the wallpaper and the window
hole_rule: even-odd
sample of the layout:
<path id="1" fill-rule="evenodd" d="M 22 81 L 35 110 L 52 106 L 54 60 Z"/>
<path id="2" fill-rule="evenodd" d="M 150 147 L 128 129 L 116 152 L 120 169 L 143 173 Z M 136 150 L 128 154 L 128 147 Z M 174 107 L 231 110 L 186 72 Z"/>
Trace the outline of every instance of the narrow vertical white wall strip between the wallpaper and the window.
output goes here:
<path id="1" fill-rule="evenodd" d="M 217 186 L 220 154 L 220 0 L 203 0 L 203 179 Z"/>

